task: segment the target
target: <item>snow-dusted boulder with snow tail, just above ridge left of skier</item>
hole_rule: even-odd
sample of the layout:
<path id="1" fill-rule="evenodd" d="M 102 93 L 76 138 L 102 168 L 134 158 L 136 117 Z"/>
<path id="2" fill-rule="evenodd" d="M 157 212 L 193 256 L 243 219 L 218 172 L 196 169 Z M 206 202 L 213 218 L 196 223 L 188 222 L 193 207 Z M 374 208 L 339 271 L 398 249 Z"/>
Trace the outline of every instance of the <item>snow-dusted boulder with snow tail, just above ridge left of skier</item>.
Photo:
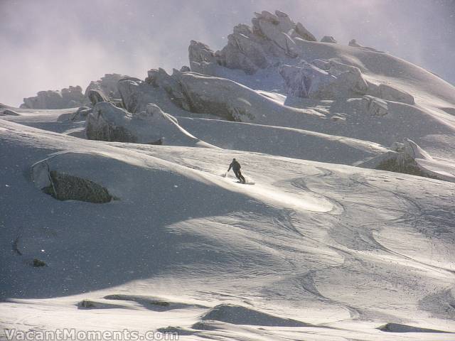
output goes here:
<path id="1" fill-rule="evenodd" d="M 131 114 L 109 102 L 97 103 L 87 117 L 85 133 L 88 139 L 101 141 L 210 146 L 181 128 L 174 117 L 155 104 L 149 104 L 146 112 Z"/>

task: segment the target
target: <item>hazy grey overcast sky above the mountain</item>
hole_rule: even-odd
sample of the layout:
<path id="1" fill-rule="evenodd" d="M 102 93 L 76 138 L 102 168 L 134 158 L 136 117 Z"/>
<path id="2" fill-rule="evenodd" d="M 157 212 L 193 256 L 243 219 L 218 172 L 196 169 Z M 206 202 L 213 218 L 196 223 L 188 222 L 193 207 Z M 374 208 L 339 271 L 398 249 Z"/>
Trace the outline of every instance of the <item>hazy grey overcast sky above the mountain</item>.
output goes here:
<path id="1" fill-rule="evenodd" d="M 318 39 L 355 38 L 455 84 L 455 0 L 0 0 L 0 102 L 180 68 L 191 39 L 218 50 L 237 23 L 275 9 Z"/>

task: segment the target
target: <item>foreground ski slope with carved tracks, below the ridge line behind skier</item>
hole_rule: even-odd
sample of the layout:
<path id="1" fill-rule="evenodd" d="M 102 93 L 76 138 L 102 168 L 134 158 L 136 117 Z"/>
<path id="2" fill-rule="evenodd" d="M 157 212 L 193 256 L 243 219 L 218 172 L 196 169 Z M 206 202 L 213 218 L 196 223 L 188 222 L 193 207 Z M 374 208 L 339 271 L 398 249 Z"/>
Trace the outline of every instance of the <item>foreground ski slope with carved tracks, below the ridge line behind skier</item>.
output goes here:
<path id="1" fill-rule="evenodd" d="M 11 165 L 1 169 L 4 327 L 170 325 L 189 340 L 398 340 L 375 330 L 386 323 L 455 332 L 451 183 L 240 151 L 87 141 L 4 120 L 0 133 L 1 163 Z M 220 176 L 233 156 L 255 185 Z M 44 159 L 115 200 L 41 192 L 30 171 Z M 90 309 L 78 308 L 83 300 Z M 210 313 L 215 306 L 220 313 Z"/>

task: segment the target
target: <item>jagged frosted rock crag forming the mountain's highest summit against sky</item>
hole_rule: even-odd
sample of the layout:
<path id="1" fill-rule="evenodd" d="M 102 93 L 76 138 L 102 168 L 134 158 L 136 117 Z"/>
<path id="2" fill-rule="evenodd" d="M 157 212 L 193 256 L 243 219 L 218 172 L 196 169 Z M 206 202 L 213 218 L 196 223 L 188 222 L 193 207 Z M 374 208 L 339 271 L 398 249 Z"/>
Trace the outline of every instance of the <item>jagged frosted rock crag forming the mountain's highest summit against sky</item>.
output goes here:
<path id="1" fill-rule="evenodd" d="M 252 27 L 235 26 L 223 50 L 214 53 L 207 45 L 192 40 L 191 71 L 216 75 L 216 67 L 223 65 L 251 75 L 282 58 L 296 58 L 300 53 L 299 40 L 316 41 L 316 38 L 301 23 L 291 21 L 286 13 L 255 13 Z"/>

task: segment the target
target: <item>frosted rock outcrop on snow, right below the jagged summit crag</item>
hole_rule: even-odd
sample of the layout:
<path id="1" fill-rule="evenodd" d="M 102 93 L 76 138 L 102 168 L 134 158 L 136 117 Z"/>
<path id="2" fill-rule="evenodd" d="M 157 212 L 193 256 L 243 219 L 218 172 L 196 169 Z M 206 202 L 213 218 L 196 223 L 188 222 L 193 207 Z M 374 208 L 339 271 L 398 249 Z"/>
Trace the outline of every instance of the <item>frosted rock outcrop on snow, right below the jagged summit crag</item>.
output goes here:
<path id="1" fill-rule="evenodd" d="M 360 69 L 355 66 L 338 63 L 334 60 L 316 61 L 315 65 L 304 60 L 299 65 L 283 65 L 279 72 L 284 78 L 287 93 L 294 97 L 314 99 L 350 98 L 365 94 L 368 84 Z"/>

